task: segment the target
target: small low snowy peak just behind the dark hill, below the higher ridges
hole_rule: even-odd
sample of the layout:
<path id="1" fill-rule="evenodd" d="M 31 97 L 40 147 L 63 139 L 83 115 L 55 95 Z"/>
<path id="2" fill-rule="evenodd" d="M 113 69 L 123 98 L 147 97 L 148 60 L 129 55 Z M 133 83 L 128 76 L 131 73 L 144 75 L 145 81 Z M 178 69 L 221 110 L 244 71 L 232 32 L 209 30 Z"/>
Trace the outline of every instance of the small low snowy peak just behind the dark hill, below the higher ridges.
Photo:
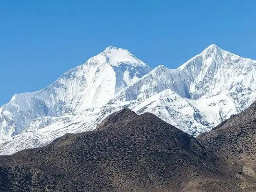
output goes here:
<path id="1" fill-rule="evenodd" d="M 209 131 L 210 125 L 196 104 L 170 89 L 157 93 L 132 108 L 138 114 L 150 112 L 191 135 Z"/>

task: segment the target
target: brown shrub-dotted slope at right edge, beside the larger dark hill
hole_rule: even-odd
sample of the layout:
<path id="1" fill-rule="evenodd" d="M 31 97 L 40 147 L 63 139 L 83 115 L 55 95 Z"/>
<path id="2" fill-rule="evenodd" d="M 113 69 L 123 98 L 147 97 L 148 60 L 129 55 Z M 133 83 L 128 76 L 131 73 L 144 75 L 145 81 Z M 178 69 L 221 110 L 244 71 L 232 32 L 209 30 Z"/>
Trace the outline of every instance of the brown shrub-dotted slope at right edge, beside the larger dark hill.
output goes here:
<path id="1" fill-rule="evenodd" d="M 197 139 L 232 167 L 244 191 L 256 191 L 256 101 Z"/>

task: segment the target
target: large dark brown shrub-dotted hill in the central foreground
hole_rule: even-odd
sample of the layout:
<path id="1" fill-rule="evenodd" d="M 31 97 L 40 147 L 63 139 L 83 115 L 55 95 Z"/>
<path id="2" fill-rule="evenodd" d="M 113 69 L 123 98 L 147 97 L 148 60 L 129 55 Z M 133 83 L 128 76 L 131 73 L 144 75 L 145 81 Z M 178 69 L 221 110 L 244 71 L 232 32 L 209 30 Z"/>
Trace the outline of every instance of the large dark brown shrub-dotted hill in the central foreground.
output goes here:
<path id="1" fill-rule="evenodd" d="M 240 191 L 223 166 L 193 136 L 124 108 L 98 130 L 0 156 L 0 190 Z"/>

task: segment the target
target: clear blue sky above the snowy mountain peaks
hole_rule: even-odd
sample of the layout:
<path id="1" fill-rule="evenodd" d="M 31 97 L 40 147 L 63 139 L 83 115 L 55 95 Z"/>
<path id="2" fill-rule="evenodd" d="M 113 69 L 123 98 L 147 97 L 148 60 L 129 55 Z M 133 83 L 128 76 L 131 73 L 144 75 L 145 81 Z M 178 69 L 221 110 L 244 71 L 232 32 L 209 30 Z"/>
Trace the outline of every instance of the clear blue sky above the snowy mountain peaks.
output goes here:
<path id="1" fill-rule="evenodd" d="M 253 0 L 0 0 L 0 106 L 108 45 L 177 68 L 210 44 L 256 59 Z"/>

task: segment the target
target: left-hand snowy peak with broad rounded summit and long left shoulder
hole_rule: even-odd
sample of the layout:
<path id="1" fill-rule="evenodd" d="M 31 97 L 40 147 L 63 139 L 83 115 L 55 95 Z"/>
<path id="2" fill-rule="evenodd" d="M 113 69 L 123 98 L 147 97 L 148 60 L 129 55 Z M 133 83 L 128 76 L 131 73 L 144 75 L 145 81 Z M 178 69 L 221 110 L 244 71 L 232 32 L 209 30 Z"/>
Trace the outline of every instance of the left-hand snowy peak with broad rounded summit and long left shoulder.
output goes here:
<path id="1" fill-rule="evenodd" d="M 47 88 L 15 94 L 0 108 L 0 142 L 28 127 L 34 130 L 31 122 L 38 117 L 76 115 L 92 106 L 100 107 L 149 71 L 148 65 L 131 52 L 108 47 Z M 48 118 L 48 124 L 52 121 Z"/>

